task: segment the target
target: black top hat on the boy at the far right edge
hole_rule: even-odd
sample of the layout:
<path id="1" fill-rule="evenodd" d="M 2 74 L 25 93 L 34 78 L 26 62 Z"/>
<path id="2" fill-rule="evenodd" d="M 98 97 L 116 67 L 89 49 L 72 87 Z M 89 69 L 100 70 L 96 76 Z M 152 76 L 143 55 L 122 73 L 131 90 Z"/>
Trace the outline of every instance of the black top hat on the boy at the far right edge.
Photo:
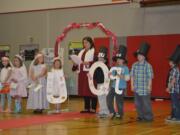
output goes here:
<path id="1" fill-rule="evenodd" d="M 173 61 L 175 64 L 178 64 L 178 62 L 180 62 L 180 44 L 177 45 L 173 54 L 169 57 L 169 60 Z"/>

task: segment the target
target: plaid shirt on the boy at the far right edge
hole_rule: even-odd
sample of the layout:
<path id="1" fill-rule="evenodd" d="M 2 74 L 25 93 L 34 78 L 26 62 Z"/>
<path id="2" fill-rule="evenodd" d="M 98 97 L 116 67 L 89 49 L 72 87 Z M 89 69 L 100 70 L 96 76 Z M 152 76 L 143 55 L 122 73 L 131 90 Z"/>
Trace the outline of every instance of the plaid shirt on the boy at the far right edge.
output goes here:
<path id="1" fill-rule="evenodd" d="M 171 81 L 175 78 L 175 84 L 171 86 Z M 174 66 L 169 72 L 168 87 L 170 88 L 170 93 L 180 92 L 180 71 L 177 66 Z"/>

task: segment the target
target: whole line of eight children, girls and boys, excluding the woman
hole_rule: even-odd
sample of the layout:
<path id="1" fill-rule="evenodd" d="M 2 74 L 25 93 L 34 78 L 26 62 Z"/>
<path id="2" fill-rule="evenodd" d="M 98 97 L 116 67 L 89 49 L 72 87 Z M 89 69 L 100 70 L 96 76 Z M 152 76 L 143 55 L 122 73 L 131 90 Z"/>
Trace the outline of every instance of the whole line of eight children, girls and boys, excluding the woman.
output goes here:
<path id="1" fill-rule="evenodd" d="M 147 61 L 147 53 L 150 46 L 147 43 L 142 43 L 140 48 L 135 52 L 137 62 L 132 65 L 131 72 L 127 67 L 125 46 L 119 46 L 119 52 L 113 57 L 114 66 L 117 70 L 109 73 L 111 78 L 110 90 L 108 94 L 98 96 L 99 101 L 99 117 L 111 117 L 120 118 L 124 116 L 123 104 L 124 95 L 127 89 L 127 81 L 131 79 L 131 90 L 134 92 L 135 106 L 137 110 L 138 121 L 152 121 L 153 113 L 151 107 L 151 91 L 152 91 L 152 79 L 153 69 L 150 63 Z M 170 121 L 180 120 L 180 102 L 179 102 L 179 90 L 180 90 L 180 71 L 178 63 L 180 59 L 180 45 L 177 46 L 176 51 L 170 57 L 171 70 L 167 81 L 167 92 L 171 94 L 172 99 L 172 113 L 167 118 Z M 101 48 L 98 55 L 98 61 L 102 61 L 108 65 L 107 49 Z M 6 56 L 2 57 L 3 67 L 0 72 L 0 98 L 1 106 L 0 112 L 11 112 L 11 98 L 14 98 L 15 106 L 14 112 L 20 113 L 22 111 L 22 97 L 27 97 L 27 109 L 33 109 L 34 113 L 42 113 L 44 109 L 49 108 L 46 95 L 46 76 L 47 67 L 44 63 L 44 56 L 42 53 L 38 53 L 32 61 L 29 72 L 27 72 L 26 66 L 23 63 L 23 59 L 20 55 L 15 55 L 13 63 Z M 54 59 L 53 70 L 61 70 L 61 60 L 59 58 Z M 119 71 L 120 72 L 119 72 Z M 94 80 L 97 83 L 97 87 L 101 87 L 104 83 L 103 72 L 99 68 L 95 71 Z M 118 81 L 117 81 L 118 79 Z M 29 91 L 27 92 L 28 84 Z M 119 84 L 117 84 L 117 82 Z M 5 103 L 7 98 L 7 103 Z M 116 101 L 117 111 L 114 108 L 114 100 Z M 7 104 L 7 108 L 5 108 Z M 58 106 L 59 108 L 59 106 Z"/>

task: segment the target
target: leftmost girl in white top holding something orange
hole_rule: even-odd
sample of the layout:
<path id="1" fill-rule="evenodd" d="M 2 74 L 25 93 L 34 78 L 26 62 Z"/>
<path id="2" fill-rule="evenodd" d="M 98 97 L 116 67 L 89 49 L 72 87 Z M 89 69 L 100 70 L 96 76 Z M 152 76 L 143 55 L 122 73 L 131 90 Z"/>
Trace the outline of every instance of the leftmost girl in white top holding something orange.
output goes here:
<path id="1" fill-rule="evenodd" d="M 11 96 L 10 92 L 10 77 L 12 73 L 12 67 L 8 57 L 2 57 L 2 69 L 0 73 L 0 82 L 2 89 L 0 90 L 1 107 L 0 112 L 11 112 Z M 5 109 L 5 98 L 7 97 L 7 108 Z M 4 110 L 5 109 L 5 110 Z"/>

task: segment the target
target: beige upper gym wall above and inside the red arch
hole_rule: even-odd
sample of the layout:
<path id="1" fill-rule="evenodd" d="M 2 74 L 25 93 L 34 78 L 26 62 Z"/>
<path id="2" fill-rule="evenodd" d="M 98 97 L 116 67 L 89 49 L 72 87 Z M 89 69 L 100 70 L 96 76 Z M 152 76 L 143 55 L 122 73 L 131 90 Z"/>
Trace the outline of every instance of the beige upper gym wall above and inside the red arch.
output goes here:
<path id="1" fill-rule="evenodd" d="M 38 12 L 0 14 L 0 43 L 12 46 L 12 55 L 19 44 L 29 42 L 40 48 L 53 47 L 56 37 L 72 22 L 102 22 L 117 36 L 180 33 L 180 6 L 135 8 L 129 4 L 70 8 Z M 78 41 L 85 35 L 105 36 L 100 30 L 72 30 L 62 45 Z"/>

